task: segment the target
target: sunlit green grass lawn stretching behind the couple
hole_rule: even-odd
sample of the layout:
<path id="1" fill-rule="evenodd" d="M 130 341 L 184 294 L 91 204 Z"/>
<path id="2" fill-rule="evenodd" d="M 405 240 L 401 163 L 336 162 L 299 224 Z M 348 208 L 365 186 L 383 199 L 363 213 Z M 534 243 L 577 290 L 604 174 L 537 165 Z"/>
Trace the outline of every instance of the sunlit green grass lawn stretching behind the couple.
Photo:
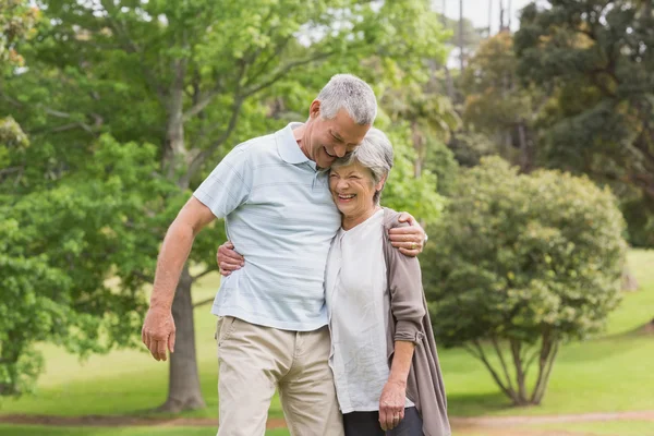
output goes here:
<path id="1" fill-rule="evenodd" d="M 654 377 L 651 371 L 654 337 L 634 332 L 654 317 L 654 251 L 632 251 L 630 265 L 641 289 L 625 294 L 620 307 L 611 314 L 604 336 L 561 348 L 540 408 L 510 408 L 480 362 L 463 350 L 440 349 L 450 414 L 523 415 L 654 410 Z M 206 276 L 196 286 L 194 298 L 199 301 L 213 295 L 217 283 L 217 276 Z M 186 412 L 184 416 L 217 416 L 215 317 L 209 308 L 206 305 L 195 312 L 197 360 L 207 408 Z M 168 365 L 154 361 L 143 350 L 114 351 L 104 356 L 92 356 L 84 363 L 51 346 L 44 346 L 43 350 L 47 370 L 39 379 L 36 395 L 19 400 L 1 400 L 0 413 L 69 416 L 143 414 L 166 399 Z M 277 397 L 270 416 L 282 416 Z M 20 433 L 22 431 L 17 426 L 12 426 L 11 433 L 3 433 L 2 428 L 0 434 L 28 434 Z M 58 431 L 52 428 L 52 432 Z M 35 434 L 104 435 L 104 431 L 81 428 L 80 432 L 87 433 Z M 144 434 L 138 433 L 142 431 L 140 427 L 124 429 L 126 433 L 112 429 L 111 434 L 141 435 Z M 174 432 L 174 428 L 161 428 L 161 433 L 157 429 L 148 434 L 175 434 L 166 433 L 169 431 Z M 206 428 L 190 428 L 184 434 L 213 433 L 207 433 Z"/>

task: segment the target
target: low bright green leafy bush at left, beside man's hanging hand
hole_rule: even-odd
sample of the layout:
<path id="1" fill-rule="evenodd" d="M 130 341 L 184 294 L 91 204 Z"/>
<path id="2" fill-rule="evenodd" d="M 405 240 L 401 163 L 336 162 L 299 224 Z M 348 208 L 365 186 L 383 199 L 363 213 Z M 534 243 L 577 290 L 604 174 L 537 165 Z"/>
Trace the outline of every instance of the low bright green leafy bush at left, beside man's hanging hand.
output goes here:
<path id="1" fill-rule="evenodd" d="M 33 388 L 37 342 L 81 355 L 134 343 L 167 225 L 161 198 L 177 192 L 155 175 L 155 153 L 104 136 L 83 171 L 1 197 L 0 395 Z"/>

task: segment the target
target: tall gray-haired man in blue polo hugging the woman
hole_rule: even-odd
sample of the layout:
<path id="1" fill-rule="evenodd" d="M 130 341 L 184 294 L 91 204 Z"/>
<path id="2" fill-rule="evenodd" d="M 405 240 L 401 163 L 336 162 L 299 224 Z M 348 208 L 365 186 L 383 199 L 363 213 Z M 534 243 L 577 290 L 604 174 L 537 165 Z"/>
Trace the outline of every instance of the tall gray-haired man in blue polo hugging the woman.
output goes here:
<path id="1" fill-rule="evenodd" d="M 371 87 L 334 76 L 311 104 L 308 120 L 238 145 L 170 226 L 155 276 L 143 341 L 166 360 L 174 341 L 171 306 L 195 235 L 225 218 L 246 258 L 222 280 L 219 316 L 218 435 L 264 435 L 276 387 L 293 435 L 342 435 L 332 374 L 323 280 L 340 215 L 327 169 L 352 152 L 376 117 Z M 410 217 L 409 217 L 410 218 Z M 403 250 L 422 250 L 420 226 L 393 229 Z"/>

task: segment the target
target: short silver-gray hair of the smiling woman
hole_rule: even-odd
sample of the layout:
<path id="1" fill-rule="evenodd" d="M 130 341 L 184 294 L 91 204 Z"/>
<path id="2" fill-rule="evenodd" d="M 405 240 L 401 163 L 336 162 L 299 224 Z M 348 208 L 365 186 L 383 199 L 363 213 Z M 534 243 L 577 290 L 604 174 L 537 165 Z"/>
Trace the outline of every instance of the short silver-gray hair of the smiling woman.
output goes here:
<path id="1" fill-rule="evenodd" d="M 354 148 L 354 152 L 336 159 L 331 164 L 331 168 L 359 164 L 371 171 L 373 184 L 377 184 L 384 178 L 388 177 L 392 168 L 392 144 L 388 140 L 388 136 L 379 129 L 371 128 L 361 145 Z M 382 191 L 384 191 L 384 186 L 375 193 L 373 197 L 375 204 L 379 203 Z"/>

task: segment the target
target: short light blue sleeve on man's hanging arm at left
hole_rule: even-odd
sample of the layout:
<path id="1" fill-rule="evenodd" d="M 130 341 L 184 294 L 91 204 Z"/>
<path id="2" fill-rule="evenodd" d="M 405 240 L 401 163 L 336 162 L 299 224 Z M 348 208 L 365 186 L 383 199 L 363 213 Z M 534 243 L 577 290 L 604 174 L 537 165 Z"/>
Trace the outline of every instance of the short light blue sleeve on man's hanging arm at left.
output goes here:
<path id="1" fill-rule="evenodd" d="M 246 144 L 234 147 L 193 193 L 217 218 L 225 218 L 247 201 L 253 177 L 250 152 Z"/>

